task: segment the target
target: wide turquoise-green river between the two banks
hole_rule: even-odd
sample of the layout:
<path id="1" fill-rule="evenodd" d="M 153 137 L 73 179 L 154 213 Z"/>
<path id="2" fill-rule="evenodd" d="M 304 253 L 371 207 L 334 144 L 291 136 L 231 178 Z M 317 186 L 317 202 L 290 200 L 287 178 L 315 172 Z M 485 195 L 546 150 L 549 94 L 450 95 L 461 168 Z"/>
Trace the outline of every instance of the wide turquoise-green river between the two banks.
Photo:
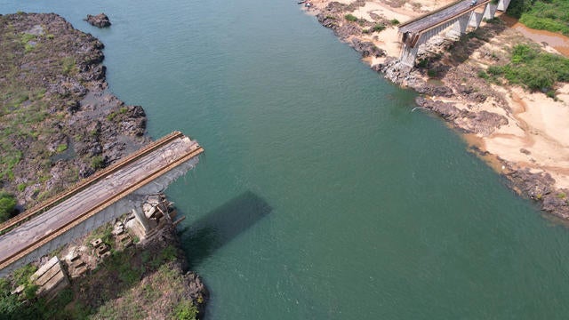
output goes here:
<path id="1" fill-rule="evenodd" d="M 0 0 L 18 10 L 99 37 L 149 134 L 204 145 L 168 195 L 208 319 L 569 315 L 566 228 L 292 0 Z"/>

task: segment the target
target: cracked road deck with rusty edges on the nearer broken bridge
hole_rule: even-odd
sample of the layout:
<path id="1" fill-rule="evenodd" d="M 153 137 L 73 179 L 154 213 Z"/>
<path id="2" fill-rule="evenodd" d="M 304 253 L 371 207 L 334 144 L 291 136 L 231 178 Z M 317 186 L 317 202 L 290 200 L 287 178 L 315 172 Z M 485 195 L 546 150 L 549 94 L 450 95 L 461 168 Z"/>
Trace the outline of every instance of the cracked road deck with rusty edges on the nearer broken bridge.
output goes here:
<path id="1" fill-rule="evenodd" d="M 52 202 L 45 212 L 0 236 L 0 268 L 203 151 L 196 141 L 177 132 L 78 185 L 66 199 Z"/>

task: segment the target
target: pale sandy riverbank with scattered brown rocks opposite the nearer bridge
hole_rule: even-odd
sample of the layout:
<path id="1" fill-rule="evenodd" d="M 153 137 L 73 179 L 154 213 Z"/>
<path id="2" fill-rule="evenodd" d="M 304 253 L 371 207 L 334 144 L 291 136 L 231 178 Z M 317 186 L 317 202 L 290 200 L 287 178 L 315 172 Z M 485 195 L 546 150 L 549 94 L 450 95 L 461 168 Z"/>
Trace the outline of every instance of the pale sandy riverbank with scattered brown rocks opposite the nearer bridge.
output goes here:
<path id="1" fill-rule="evenodd" d="M 404 22 L 451 2 L 341 0 L 341 4 L 333 4 L 329 0 L 314 0 L 308 12 L 325 27 L 333 28 L 342 41 L 362 52 L 364 61 L 372 68 L 423 93 L 422 106 L 465 132 L 469 144 L 496 171 L 509 178 L 517 192 L 541 200 L 544 210 L 569 218 L 569 204 L 564 196 L 569 194 L 569 84 L 558 87 L 557 100 L 553 100 L 544 93 L 527 92 L 517 86 L 488 84 L 477 76 L 481 69 L 508 61 L 511 46 L 532 40 L 507 24 L 483 22 L 478 38 L 484 41 L 471 39 L 454 44 L 451 53 L 440 42 L 429 47 L 431 53 L 437 51 L 437 46 L 442 49 L 437 52 L 439 59 L 428 66 L 437 76 L 427 76 L 426 69 L 408 73 L 385 67 L 398 57 L 401 47 L 394 19 Z M 359 20 L 345 20 L 348 13 Z M 369 32 L 374 24 L 387 28 Z M 354 39 L 359 40 L 358 44 L 377 46 L 383 54 L 361 50 L 361 45 L 354 45 Z M 557 52 L 549 44 L 541 46 L 548 52 Z M 430 77 L 442 85 L 430 84 Z"/>

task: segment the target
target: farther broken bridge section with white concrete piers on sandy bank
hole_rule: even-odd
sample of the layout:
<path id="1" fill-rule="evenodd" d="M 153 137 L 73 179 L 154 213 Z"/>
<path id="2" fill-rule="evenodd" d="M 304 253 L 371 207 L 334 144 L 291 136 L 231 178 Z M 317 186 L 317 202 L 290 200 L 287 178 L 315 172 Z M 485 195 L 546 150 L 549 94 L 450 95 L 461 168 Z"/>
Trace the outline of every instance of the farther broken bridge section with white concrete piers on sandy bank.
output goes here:
<path id="1" fill-rule="evenodd" d="M 419 46 L 433 36 L 450 29 L 450 34 L 462 36 L 467 28 L 480 27 L 483 19 L 493 19 L 497 10 L 505 12 L 510 0 L 461 0 L 399 25 L 402 47 L 399 61 L 413 67 Z"/>

